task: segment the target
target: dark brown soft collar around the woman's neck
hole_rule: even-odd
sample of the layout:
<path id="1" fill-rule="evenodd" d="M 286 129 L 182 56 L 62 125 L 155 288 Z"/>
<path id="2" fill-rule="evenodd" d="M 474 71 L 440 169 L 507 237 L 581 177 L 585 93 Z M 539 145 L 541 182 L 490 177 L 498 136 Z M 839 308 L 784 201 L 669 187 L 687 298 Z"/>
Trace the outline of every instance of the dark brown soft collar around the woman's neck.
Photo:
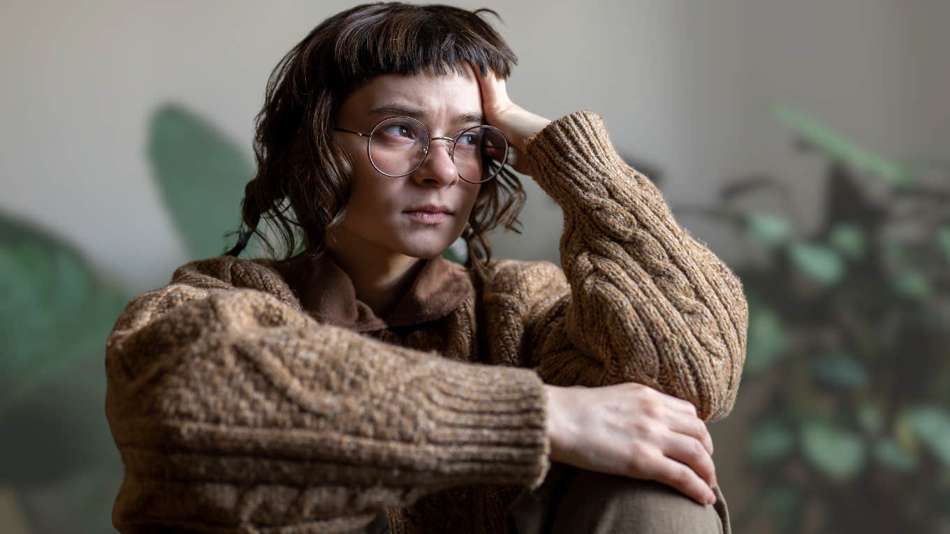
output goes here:
<path id="1" fill-rule="evenodd" d="M 352 279 L 330 254 L 294 257 L 276 269 L 300 300 L 301 308 L 325 324 L 371 332 L 426 323 L 456 310 L 473 291 L 465 267 L 437 256 L 426 262 L 389 314 L 376 316 L 356 298 Z"/>

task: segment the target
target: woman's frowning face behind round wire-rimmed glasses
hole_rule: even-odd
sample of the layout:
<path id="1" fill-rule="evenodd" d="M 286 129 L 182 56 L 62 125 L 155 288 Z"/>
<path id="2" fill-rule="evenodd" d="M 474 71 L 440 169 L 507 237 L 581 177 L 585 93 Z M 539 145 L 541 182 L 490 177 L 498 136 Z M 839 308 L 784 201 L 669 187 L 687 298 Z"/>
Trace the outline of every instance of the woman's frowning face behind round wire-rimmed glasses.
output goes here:
<path id="1" fill-rule="evenodd" d="M 471 68 L 465 72 L 462 76 L 379 76 L 347 97 L 335 125 L 369 133 L 387 117 L 406 115 L 425 124 L 429 136 L 454 139 L 468 127 L 485 124 L 478 80 Z M 407 176 L 391 178 L 370 162 L 369 138 L 345 132 L 334 135 L 352 156 L 353 169 L 345 219 L 327 239 L 332 249 L 335 239 L 335 246 L 361 249 L 379 259 L 436 257 L 459 238 L 481 184 L 459 178 L 448 155 L 451 142 L 431 141 L 422 166 Z M 428 204 L 446 206 L 448 213 L 434 221 L 410 213 Z"/>

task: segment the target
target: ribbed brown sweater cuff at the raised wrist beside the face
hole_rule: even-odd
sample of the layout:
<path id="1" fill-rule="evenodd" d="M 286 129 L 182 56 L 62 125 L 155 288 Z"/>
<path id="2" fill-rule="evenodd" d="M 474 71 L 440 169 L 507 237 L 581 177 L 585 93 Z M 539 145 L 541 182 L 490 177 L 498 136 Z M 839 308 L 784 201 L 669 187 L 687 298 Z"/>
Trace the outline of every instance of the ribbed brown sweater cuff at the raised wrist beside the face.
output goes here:
<path id="1" fill-rule="evenodd" d="M 572 211 L 593 208 L 596 199 L 608 198 L 605 177 L 622 180 L 627 169 L 603 119 L 590 110 L 547 124 L 524 144 L 532 177 L 562 208 Z"/>

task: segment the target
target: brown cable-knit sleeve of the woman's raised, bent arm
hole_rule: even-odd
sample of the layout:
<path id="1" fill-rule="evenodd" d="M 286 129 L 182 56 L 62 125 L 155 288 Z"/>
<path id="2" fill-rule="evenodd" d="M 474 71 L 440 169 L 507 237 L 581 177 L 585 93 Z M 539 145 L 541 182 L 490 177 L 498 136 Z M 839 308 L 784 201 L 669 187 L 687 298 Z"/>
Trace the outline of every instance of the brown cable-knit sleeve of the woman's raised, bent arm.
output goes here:
<path id="1" fill-rule="evenodd" d="M 563 211 L 561 269 L 521 284 L 526 357 L 545 382 L 638 382 L 725 417 L 745 361 L 740 279 L 680 227 L 656 185 L 618 156 L 602 119 L 572 113 L 527 140 L 533 177 Z"/>

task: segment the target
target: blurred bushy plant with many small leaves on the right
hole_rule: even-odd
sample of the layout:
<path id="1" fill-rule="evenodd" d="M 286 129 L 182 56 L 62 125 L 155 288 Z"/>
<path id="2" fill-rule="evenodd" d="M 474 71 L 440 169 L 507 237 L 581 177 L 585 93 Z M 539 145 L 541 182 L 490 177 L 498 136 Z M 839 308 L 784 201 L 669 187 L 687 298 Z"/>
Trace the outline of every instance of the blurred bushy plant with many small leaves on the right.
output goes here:
<path id="1" fill-rule="evenodd" d="M 727 184 L 713 209 L 676 210 L 725 221 L 766 258 L 735 269 L 750 304 L 744 380 L 775 386 L 745 442 L 761 488 L 734 526 L 771 513 L 781 532 L 932 531 L 950 521 L 946 168 L 774 114 L 828 161 L 819 228 L 802 235 L 781 183 L 761 176 Z M 789 213 L 740 209 L 761 192 Z"/>

